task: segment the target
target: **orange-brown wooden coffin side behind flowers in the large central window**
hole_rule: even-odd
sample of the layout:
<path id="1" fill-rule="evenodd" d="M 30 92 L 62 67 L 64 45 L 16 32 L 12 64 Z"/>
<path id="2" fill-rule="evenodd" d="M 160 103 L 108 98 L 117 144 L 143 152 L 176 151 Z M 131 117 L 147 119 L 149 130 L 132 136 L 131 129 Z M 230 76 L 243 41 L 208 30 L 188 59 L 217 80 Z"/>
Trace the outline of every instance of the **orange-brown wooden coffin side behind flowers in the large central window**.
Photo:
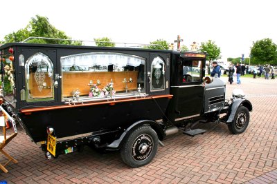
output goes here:
<path id="1" fill-rule="evenodd" d="M 105 85 L 111 82 L 114 83 L 114 89 L 116 92 L 125 91 L 124 78 L 129 81 L 129 78 L 133 79 L 132 83 L 127 83 L 128 90 L 136 90 L 138 71 L 128 72 L 63 72 L 62 73 L 62 96 L 72 96 L 73 90 L 79 89 L 80 95 L 89 95 L 89 81 L 92 80 L 96 83 L 100 80 L 98 88 L 102 89 Z"/>

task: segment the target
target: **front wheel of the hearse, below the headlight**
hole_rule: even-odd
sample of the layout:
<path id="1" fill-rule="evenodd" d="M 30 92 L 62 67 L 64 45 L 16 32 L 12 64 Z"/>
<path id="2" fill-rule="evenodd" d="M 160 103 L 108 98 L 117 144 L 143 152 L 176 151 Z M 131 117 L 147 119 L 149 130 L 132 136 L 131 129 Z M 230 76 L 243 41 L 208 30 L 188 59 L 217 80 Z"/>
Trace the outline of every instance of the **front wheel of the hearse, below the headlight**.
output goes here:
<path id="1" fill-rule="evenodd" d="M 240 106 L 235 112 L 235 117 L 231 123 L 228 124 L 228 129 L 232 134 L 241 134 L 247 129 L 249 124 L 249 110 L 244 106 Z"/>

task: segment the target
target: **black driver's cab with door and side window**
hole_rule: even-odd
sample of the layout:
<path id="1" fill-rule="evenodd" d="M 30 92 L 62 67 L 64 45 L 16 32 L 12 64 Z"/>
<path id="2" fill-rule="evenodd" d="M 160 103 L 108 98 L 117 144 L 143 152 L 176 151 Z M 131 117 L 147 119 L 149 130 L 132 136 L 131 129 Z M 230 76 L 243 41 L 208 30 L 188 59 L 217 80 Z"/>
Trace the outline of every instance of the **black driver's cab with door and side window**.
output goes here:
<path id="1" fill-rule="evenodd" d="M 184 121 L 193 116 L 199 116 L 204 109 L 204 65 L 206 54 L 200 52 L 181 52 L 179 58 L 171 63 L 172 85 L 170 94 L 173 99 L 170 101 L 172 121 Z"/>

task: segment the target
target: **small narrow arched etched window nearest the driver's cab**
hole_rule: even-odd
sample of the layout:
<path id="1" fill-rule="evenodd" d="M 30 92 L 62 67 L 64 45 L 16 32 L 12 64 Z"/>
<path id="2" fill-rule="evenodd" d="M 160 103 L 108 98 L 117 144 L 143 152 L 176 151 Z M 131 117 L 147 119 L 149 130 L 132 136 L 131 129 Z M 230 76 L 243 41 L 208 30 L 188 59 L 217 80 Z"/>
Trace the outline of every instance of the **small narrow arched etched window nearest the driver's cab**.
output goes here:
<path id="1" fill-rule="evenodd" d="M 166 65 L 161 57 L 155 57 L 151 64 L 151 91 L 165 90 Z"/>

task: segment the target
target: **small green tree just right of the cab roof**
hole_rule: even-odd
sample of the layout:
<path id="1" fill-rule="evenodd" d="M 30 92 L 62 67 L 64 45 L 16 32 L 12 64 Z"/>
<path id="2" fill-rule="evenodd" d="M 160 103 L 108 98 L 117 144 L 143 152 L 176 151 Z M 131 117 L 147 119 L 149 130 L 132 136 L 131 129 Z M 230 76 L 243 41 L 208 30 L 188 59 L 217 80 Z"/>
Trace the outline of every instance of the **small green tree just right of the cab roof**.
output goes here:
<path id="1" fill-rule="evenodd" d="M 215 45 L 215 41 L 208 40 L 205 43 L 202 42 L 199 50 L 201 52 L 207 52 L 208 55 L 206 59 L 210 62 L 210 65 L 211 65 L 211 61 L 221 58 L 220 47 Z"/>

